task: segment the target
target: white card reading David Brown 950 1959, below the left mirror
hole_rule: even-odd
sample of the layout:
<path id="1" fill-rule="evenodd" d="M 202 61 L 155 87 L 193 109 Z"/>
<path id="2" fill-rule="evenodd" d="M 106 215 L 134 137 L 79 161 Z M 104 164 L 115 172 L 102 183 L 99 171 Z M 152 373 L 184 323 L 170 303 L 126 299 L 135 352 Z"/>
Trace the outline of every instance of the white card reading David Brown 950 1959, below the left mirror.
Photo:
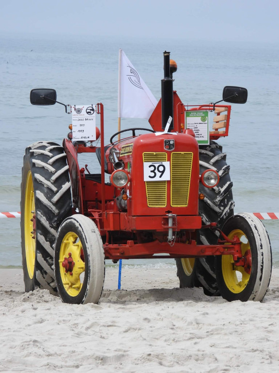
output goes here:
<path id="1" fill-rule="evenodd" d="M 72 106 L 73 141 L 96 140 L 96 105 Z"/>

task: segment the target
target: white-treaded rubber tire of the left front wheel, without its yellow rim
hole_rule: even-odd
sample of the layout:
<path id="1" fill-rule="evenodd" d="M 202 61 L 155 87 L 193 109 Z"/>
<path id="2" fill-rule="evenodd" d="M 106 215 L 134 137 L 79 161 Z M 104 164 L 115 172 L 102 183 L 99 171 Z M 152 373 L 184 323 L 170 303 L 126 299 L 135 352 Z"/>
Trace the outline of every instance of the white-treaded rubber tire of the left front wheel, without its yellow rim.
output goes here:
<path id="1" fill-rule="evenodd" d="M 76 233 L 82 242 L 85 263 L 88 265 L 86 269 L 87 275 L 84 277 L 81 292 L 77 297 L 71 297 L 66 293 L 62 284 L 59 267 L 62 239 L 70 231 Z M 58 293 L 62 302 L 71 304 L 97 304 L 99 302 L 105 280 L 105 255 L 99 230 L 90 218 L 77 214 L 62 222 L 55 242 L 54 273 Z"/>

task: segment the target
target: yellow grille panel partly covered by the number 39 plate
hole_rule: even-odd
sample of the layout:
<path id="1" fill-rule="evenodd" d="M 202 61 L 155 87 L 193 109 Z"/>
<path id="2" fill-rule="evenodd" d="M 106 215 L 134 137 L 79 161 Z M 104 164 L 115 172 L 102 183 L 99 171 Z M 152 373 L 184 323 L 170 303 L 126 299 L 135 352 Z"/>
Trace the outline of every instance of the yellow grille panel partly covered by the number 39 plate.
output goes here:
<path id="1" fill-rule="evenodd" d="M 166 162 L 167 153 L 143 153 L 143 162 Z M 146 196 L 148 207 L 167 206 L 167 182 L 146 181 Z"/>

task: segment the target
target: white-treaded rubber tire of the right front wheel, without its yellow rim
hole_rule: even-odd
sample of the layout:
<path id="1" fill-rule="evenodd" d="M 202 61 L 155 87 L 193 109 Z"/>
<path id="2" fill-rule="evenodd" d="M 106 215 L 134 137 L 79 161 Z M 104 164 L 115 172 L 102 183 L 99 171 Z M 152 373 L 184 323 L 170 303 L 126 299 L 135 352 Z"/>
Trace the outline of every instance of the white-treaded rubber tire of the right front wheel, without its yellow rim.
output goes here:
<path id="1" fill-rule="evenodd" d="M 217 270 L 217 282 L 223 298 L 232 301 L 232 300 L 240 300 L 240 301 L 262 301 L 263 297 L 268 289 L 270 277 L 271 277 L 271 270 L 272 270 L 272 254 L 271 254 L 271 246 L 268 234 L 266 229 L 261 220 L 256 218 L 253 214 L 250 213 L 239 213 L 234 215 L 230 218 L 224 225 L 224 233 L 226 232 L 226 228 L 230 226 L 232 222 L 239 220 L 240 223 L 248 223 L 249 229 L 251 230 L 252 237 L 254 239 L 251 243 L 255 244 L 255 249 L 251 247 L 251 254 L 252 254 L 252 271 L 250 275 L 249 282 L 244 288 L 244 290 L 240 293 L 231 293 L 228 291 L 222 291 L 224 288 L 224 280 L 222 277 L 222 270 L 221 270 L 221 256 L 216 256 L 216 270 Z M 231 220 L 231 221 L 230 221 Z M 236 228 L 234 228 L 236 229 Z M 239 229 L 242 229 L 239 227 Z M 243 230 L 243 229 L 242 229 Z M 246 232 L 244 232 L 246 234 Z M 249 240 L 249 237 L 247 237 Z M 256 250 L 256 251 L 254 251 Z M 254 251 L 254 253 L 253 253 Z M 253 268 L 253 254 L 257 255 L 257 268 Z M 254 259 L 255 265 L 255 259 Z"/>

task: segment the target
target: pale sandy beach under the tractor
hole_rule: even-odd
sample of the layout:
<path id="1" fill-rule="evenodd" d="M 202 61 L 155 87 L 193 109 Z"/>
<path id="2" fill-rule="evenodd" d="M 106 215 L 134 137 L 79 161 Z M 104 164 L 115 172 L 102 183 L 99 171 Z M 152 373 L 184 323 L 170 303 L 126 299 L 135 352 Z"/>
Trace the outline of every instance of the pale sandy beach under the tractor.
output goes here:
<path id="1" fill-rule="evenodd" d="M 98 305 L 24 292 L 0 270 L 0 372 L 278 372 L 279 269 L 263 302 L 180 289 L 174 268 L 107 268 Z"/>

